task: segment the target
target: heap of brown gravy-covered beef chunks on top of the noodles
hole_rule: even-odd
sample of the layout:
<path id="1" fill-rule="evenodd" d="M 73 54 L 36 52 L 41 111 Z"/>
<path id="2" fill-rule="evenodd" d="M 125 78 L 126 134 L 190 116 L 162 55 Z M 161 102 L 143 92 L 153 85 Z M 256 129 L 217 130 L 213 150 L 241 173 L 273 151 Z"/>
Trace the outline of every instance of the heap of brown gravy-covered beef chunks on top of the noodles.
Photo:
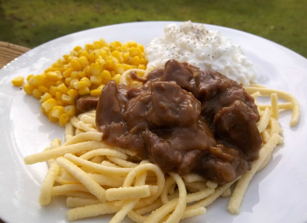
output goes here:
<path id="1" fill-rule="evenodd" d="M 219 184 L 250 169 L 262 138 L 257 106 L 241 85 L 175 60 L 146 80 L 141 89 L 115 81 L 103 88 L 96 124 L 104 140 L 164 172 L 195 172 Z"/>

